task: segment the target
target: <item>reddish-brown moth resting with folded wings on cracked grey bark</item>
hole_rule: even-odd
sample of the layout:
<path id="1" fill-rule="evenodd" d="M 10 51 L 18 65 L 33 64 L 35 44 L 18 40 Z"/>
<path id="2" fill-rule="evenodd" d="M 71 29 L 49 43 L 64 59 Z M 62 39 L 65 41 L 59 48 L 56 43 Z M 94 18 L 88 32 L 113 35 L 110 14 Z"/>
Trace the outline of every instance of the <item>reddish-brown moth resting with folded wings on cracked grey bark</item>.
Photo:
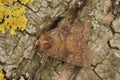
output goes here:
<path id="1" fill-rule="evenodd" d="M 45 55 L 75 66 L 89 66 L 88 41 L 91 34 L 89 23 L 79 23 L 48 31 L 36 42 Z"/>

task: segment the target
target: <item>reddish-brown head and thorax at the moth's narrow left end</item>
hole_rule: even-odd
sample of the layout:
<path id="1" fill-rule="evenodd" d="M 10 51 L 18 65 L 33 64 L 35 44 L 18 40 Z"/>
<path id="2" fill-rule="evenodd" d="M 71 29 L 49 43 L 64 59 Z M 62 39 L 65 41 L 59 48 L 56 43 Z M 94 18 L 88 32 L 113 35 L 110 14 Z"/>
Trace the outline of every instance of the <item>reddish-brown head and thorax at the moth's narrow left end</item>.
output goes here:
<path id="1" fill-rule="evenodd" d="M 36 46 L 40 51 L 48 50 L 52 46 L 52 38 L 43 35 L 36 41 Z"/>

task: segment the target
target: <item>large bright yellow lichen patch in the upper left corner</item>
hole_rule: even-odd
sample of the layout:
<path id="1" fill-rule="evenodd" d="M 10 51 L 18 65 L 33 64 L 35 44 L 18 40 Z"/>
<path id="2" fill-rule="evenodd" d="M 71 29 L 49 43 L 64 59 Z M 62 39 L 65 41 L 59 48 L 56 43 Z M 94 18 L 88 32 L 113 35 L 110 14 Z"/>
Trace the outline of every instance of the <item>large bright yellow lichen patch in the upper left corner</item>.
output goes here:
<path id="1" fill-rule="evenodd" d="M 19 0 L 20 3 L 26 5 L 33 0 Z M 25 17 L 25 6 L 18 4 L 17 0 L 0 0 L 0 31 L 5 33 L 7 29 L 11 34 L 16 34 L 17 30 L 24 31 L 27 25 Z"/>

